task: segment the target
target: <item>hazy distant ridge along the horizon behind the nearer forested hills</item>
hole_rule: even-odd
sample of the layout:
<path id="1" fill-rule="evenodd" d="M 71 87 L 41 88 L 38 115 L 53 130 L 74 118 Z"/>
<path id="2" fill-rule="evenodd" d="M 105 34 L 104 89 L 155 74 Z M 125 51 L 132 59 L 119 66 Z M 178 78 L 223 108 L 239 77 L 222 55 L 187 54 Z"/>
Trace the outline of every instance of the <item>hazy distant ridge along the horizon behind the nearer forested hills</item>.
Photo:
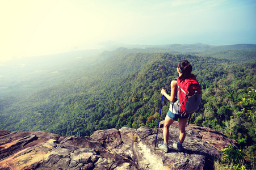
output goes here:
<path id="1" fill-rule="evenodd" d="M 107 42 L 103 43 L 107 47 Z M 242 63 L 256 61 L 256 44 L 234 44 L 234 45 L 208 45 L 196 44 L 166 44 L 166 45 L 128 45 L 110 42 L 111 52 L 126 53 L 171 53 L 191 54 L 201 57 L 213 57 L 230 59 Z M 106 48 L 107 50 L 108 48 Z M 250 56 L 250 57 L 248 57 Z"/>

